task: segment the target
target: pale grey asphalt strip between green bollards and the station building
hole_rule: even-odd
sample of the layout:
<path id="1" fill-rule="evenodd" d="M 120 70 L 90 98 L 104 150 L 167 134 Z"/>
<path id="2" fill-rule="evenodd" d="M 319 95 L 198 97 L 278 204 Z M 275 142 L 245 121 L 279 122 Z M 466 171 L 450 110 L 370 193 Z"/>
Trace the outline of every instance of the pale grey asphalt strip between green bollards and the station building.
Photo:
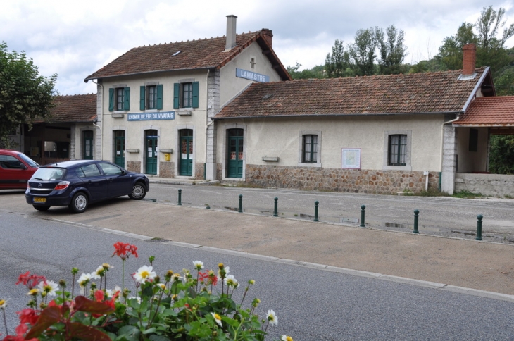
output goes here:
<path id="1" fill-rule="evenodd" d="M 271 216 L 274 198 L 278 198 L 279 216 L 314 218 L 318 201 L 320 221 L 358 225 L 361 205 L 365 205 L 365 223 L 369 227 L 409 231 L 414 210 L 418 209 L 419 229 L 425 234 L 475 238 L 477 215 L 484 216 L 484 240 L 514 243 L 514 199 L 458 199 L 452 197 L 403 197 L 391 195 L 270 190 L 245 187 L 179 186 L 151 184 L 147 198 L 176 203 L 182 190 L 182 204 L 210 206 L 213 209 L 239 209 L 239 194 L 246 213 Z"/>

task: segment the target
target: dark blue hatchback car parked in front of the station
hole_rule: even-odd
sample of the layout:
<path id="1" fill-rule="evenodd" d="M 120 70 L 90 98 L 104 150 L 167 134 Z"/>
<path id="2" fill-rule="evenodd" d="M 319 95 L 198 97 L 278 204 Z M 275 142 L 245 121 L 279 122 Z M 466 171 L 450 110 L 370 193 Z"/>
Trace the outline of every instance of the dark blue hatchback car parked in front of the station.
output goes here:
<path id="1" fill-rule="evenodd" d="M 91 202 L 128 195 L 141 200 L 150 189 L 146 175 L 107 161 L 64 161 L 40 166 L 27 182 L 25 199 L 37 211 L 68 206 L 82 213 Z"/>

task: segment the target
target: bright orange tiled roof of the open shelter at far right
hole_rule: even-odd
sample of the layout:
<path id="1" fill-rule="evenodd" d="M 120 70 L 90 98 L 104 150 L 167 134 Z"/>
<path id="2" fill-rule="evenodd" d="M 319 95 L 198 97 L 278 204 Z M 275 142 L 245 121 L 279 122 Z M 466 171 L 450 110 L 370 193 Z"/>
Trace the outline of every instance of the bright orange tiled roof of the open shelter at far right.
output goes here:
<path id="1" fill-rule="evenodd" d="M 477 97 L 453 125 L 514 126 L 514 96 Z"/>

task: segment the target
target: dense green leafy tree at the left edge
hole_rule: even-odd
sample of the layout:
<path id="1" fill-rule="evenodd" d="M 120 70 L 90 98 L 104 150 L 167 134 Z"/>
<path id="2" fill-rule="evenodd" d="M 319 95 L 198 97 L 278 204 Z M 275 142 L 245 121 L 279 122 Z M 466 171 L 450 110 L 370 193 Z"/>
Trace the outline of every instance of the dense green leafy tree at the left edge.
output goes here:
<path id="1" fill-rule="evenodd" d="M 57 75 L 39 75 L 25 52 L 7 51 L 0 43 L 0 144 L 10 147 L 8 135 L 21 124 L 32 129 L 34 120 L 46 120 L 54 106 Z"/>

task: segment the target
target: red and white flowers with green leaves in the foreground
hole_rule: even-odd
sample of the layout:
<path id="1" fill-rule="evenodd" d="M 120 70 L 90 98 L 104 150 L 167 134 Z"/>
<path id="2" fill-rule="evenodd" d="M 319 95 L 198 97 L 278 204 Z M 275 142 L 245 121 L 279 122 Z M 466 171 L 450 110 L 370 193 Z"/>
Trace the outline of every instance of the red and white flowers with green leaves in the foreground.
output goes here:
<path id="1" fill-rule="evenodd" d="M 234 302 L 232 294 L 240 284 L 222 263 L 213 271 L 194 261 L 193 272 L 168 270 L 161 277 L 153 271 L 151 256 L 149 266 L 132 274 L 136 287 L 132 293 L 125 287 L 125 262 L 138 256 L 137 247 L 122 242 L 114 247 L 113 256 L 123 264 L 121 287 L 107 288 L 108 263 L 78 279 L 78 269 L 73 268 L 70 291 L 64 280 L 55 283 L 29 272 L 20 275 L 16 284 L 27 286 L 30 302 L 17 312 L 20 324 L 15 335 L 4 340 L 264 340 L 268 327 L 277 324 L 275 311 L 269 310 L 262 319 L 255 314 L 261 302 L 257 298 L 244 308 L 253 280 L 246 283 L 242 301 Z M 76 296 L 75 282 L 80 289 Z M 6 306 L 0 299 L 8 334 Z M 280 340 L 292 338 L 282 335 Z"/>

